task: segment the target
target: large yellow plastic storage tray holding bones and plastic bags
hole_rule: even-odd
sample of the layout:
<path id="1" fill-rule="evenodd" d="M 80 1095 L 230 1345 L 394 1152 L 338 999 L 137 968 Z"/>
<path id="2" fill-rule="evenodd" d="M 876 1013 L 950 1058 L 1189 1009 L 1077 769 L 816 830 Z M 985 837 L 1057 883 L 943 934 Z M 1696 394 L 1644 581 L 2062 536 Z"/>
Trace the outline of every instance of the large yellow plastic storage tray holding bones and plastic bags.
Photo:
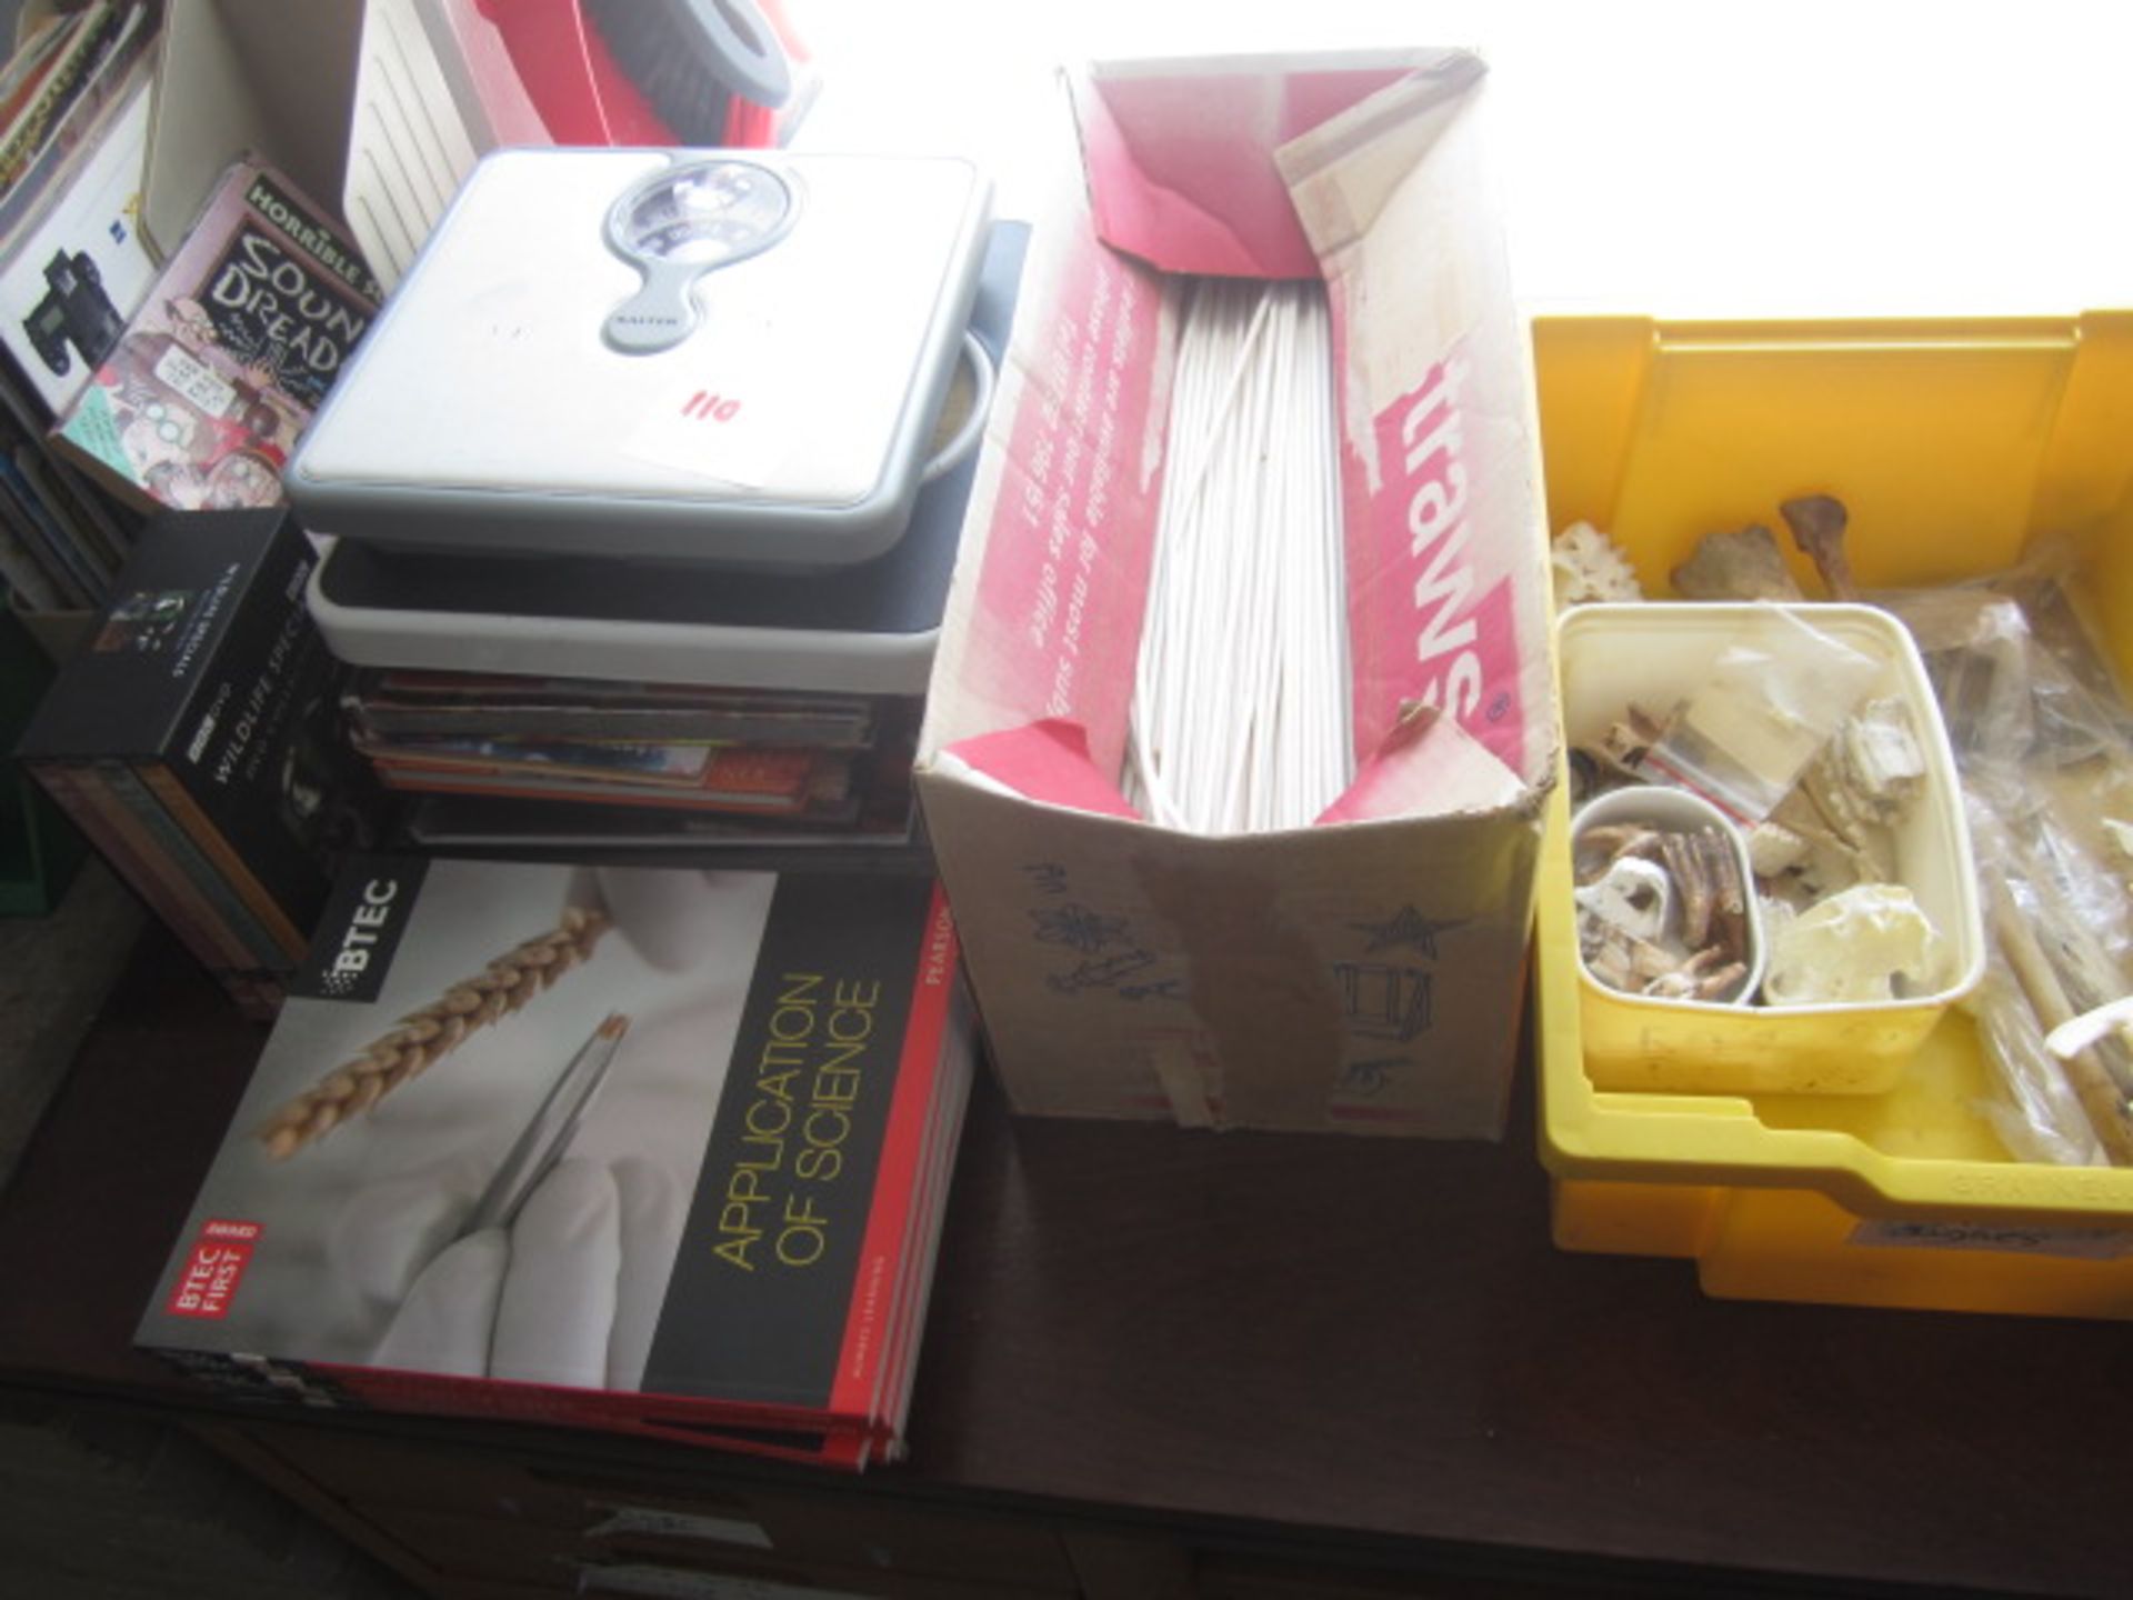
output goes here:
<path id="1" fill-rule="evenodd" d="M 1828 493 L 1869 589 L 2071 540 L 2075 589 L 2133 681 L 2133 311 L 1536 318 L 1534 358 L 1551 527 L 1606 529 L 1647 593 L 1668 593 L 1704 533 Z M 1561 1248 L 1687 1257 L 1721 1297 L 2133 1318 L 2133 1169 L 2009 1158 L 1975 1109 L 1992 1069 L 1967 1015 L 1943 1018 L 1886 1094 L 1602 1092 L 1578 1037 L 1568 785 L 1538 898 L 1540 1150 Z"/>

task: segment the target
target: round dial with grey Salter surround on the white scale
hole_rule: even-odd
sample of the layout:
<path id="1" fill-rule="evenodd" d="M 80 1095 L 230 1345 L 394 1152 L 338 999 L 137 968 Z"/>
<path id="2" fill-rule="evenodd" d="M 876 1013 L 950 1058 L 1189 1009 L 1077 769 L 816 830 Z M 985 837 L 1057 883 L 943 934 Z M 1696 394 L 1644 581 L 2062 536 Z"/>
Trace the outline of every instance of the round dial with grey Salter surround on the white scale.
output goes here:
<path id="1" fill-rule="evenodd" d="M 695 279 L 761 254 L 798 211 L 789 177 L 736 156 L 634 183 L 608 211 L 608 245 L 644 273 L 644 286 L 608 314 L 608 343 L 623 354 L 672 350 L 695 331 Z"/>

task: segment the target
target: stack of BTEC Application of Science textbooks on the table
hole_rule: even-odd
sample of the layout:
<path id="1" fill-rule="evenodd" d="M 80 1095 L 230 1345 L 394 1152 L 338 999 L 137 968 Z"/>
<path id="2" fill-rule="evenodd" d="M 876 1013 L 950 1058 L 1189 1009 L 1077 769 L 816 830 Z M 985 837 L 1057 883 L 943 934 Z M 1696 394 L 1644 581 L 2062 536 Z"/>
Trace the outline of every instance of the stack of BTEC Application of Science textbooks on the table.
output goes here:
<path id="1" fill-rule="evenodd" d="M 930 879 L 352 858 L 137 1340 L 262 1399 L 864 1466 L 971 1060 Z"/>

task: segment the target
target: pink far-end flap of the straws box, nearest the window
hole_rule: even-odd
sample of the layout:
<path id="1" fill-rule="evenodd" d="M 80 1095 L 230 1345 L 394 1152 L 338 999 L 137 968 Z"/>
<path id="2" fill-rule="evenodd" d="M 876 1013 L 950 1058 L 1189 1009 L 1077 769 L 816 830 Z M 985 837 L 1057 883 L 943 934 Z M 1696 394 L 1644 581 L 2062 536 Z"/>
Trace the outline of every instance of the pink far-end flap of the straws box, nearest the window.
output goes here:
<path id="1" fill-rule="evenodd" d="M 1169 273 L 1316 277 L 1276 151 L 1442 66 L 1442 51 L 1092 66 L 1071 90 L 1096 233 Z"/>

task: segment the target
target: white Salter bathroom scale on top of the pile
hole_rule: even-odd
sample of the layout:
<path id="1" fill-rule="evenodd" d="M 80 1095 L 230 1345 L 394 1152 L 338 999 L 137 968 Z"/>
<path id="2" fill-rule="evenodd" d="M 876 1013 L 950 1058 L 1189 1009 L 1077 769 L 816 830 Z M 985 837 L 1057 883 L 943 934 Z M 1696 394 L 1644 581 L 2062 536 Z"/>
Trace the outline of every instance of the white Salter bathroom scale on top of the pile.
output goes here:
<path id="1" fill-rule="evenodd" d="M 926 476 L 988 213 L 958 158 L 495 151 L 284 489 L 397 548 L 868 561 Z"/>

